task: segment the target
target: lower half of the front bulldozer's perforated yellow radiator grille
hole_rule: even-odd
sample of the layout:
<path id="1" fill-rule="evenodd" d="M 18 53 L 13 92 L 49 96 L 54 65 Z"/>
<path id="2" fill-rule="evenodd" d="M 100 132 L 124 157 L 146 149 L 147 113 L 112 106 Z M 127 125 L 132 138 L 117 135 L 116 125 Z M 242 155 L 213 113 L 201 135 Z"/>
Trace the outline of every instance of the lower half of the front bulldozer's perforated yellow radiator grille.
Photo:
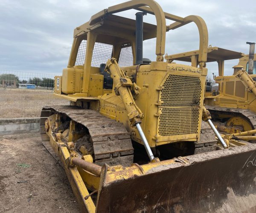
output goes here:
<path id="1" fill-rule="evenodd" d="M 198 108 L 161 108 L 159 135 L 187 135 L 198 133 Z"/>

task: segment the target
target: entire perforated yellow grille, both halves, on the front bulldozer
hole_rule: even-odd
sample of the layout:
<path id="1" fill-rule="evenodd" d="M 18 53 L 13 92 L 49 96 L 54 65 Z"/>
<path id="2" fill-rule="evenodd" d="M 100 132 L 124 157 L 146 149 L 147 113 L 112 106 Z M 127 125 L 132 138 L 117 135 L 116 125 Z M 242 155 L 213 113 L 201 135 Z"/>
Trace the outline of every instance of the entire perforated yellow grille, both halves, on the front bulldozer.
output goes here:
<path id="1" fill-rule="evenodd" d="M 169 75 L 163 84 L 160 100 L 159 129 L 161 136 L 198 133 L 201 104 L 199 77 Z"/>

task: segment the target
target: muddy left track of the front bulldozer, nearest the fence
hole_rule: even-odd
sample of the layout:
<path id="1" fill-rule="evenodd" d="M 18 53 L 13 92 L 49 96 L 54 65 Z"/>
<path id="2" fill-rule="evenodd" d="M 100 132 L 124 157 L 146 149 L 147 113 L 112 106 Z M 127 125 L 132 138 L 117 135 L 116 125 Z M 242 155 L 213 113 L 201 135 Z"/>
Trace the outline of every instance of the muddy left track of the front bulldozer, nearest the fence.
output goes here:
<path id="1" fill-rule="evenodd" d="M 133 163 L 133 147 L 129 132 L 122 123 L 101 115 L 91 109 L 81 109 L 75 106 L 44 107 L 41 112 L 41 139 L 46 149 L 52 150 L 49 137 L 46 134 L 44 122 L 53 113 L 61 113 L 72 121 L 87 128 L 90 141 L 93 144 L 93 160 L 95 164 L 130 166 Z M 49 151 L 58 161 L 57 155 Z"/>

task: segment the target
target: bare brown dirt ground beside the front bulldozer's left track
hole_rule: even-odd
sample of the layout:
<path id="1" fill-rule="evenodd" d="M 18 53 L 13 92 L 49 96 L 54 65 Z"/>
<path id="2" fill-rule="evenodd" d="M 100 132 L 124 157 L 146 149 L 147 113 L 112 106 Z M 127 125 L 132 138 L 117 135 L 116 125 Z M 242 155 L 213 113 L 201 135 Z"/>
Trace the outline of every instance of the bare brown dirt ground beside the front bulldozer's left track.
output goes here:
<path id="1" fill-rule="evenodd" d="M 64 169 L 39 133 L 0 135 L 0 213 L 79 212 Z"/>

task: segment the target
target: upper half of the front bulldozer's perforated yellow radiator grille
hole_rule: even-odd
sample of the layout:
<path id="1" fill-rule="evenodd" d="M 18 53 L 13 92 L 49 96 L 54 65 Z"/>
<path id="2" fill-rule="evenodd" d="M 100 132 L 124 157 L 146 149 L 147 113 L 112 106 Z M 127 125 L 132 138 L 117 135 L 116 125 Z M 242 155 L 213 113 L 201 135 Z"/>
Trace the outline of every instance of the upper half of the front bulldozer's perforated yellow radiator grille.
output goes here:
<path id="1" fill-rule="evenodd" d="M 201 91 L 199 77 L 169 75 L 161 92 L 162 107 L 198 107 Z"/>

